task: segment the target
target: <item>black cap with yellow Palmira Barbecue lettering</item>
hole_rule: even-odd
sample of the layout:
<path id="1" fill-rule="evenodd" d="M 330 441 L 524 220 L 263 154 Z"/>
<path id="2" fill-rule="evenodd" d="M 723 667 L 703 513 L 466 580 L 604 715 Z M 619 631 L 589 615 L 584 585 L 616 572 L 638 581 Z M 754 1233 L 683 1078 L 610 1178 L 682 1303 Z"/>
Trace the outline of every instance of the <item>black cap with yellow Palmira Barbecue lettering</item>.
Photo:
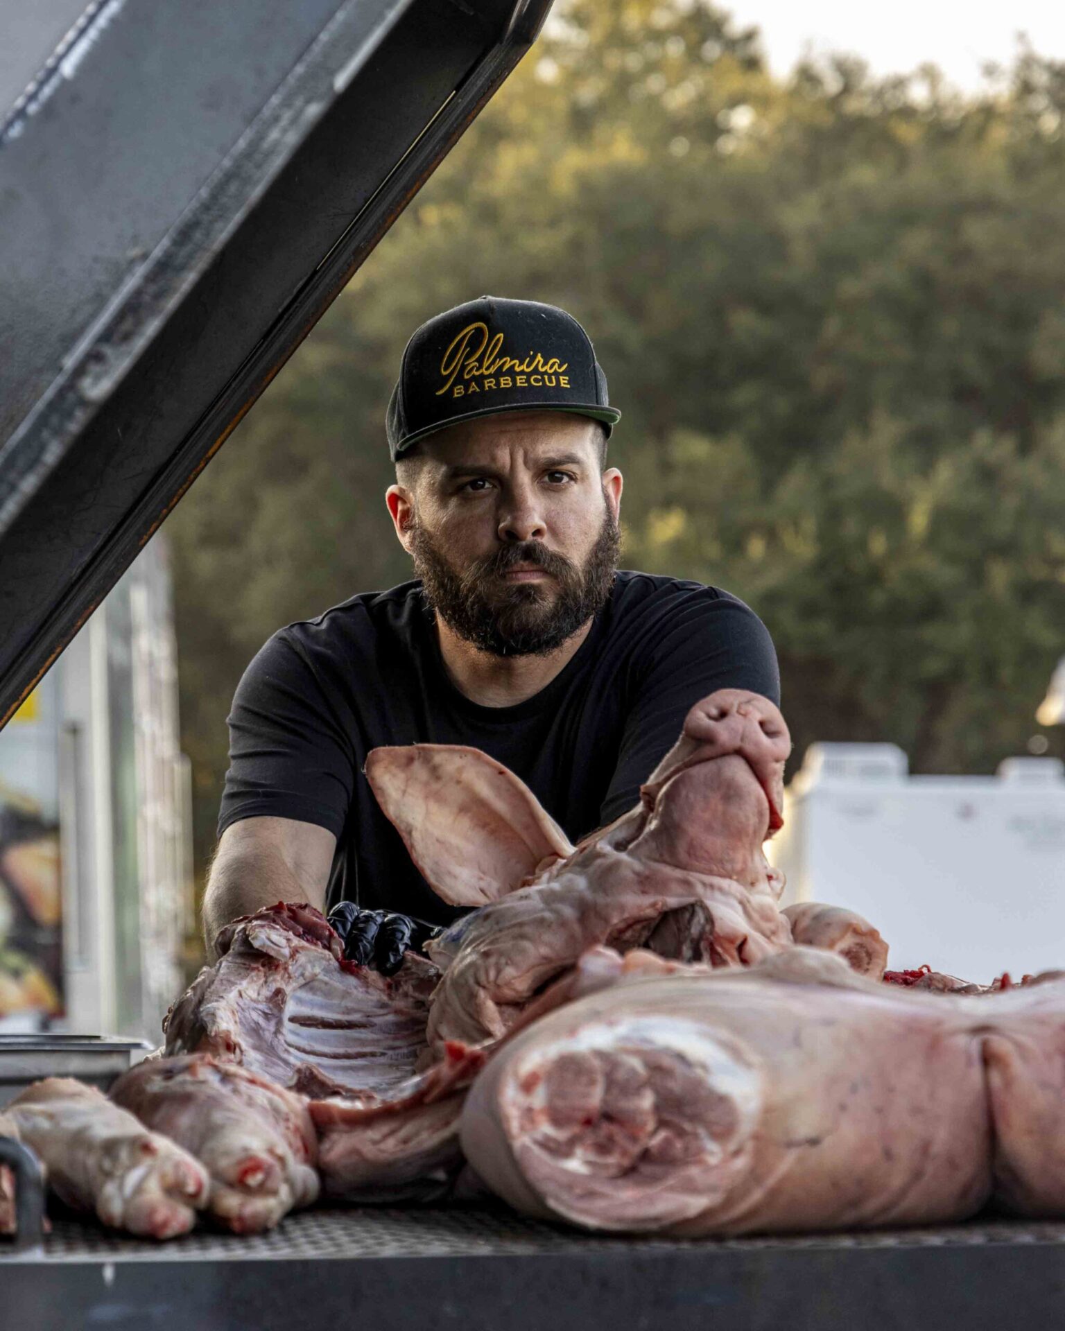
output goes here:
<path id="1" fill-rule="evenodd" d="M 570 411 L 602 421 L 607 438 L 622 418 L 572 314 L 481 295 L 437 314 L 407 342 L 389 402 L 393 462 L 437 430 L 497 411 Z"/>

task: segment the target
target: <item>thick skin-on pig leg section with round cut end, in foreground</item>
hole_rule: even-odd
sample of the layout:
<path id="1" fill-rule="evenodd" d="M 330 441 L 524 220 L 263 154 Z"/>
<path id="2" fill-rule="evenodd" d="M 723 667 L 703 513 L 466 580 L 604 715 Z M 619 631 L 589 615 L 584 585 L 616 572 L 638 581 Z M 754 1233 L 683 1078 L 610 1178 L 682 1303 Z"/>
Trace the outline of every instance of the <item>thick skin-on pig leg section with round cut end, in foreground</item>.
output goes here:
<path id="1" fill-rule="evenodd" d="M 519 1210 L 676 1235 L 957 1221 L 992 1197 L 1065 1213 L 1061 978 L 923 993 L 804 948 L 582 970 L 463 1111 L 470 1163 Z"/>

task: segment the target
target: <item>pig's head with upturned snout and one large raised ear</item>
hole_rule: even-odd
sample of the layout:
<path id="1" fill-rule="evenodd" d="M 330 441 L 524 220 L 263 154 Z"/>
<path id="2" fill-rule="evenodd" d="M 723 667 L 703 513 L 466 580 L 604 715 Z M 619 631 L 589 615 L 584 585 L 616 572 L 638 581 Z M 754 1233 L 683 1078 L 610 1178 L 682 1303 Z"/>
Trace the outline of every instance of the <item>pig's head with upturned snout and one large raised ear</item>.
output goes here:
<path id="1" fill-rule="evenodd" d="M 547 982 L 595 945 L 715 966 L 792 944 L 763 843 L 783 825 L 788 729 L 765 697 L 719 689 L 691 708 L 639 804 L 572 847 L 535 796 L 477 749 L 374 749 L 366 775 L 445 901 L 481 906 L 427 945 L 443 978 L 431 1045 L 502 1038 Z M 883 973 L 887 948 L 849 912 L 805 910 L 815 944 Z M 427 1055 L 433 1057 L 433 1054 Z"/>

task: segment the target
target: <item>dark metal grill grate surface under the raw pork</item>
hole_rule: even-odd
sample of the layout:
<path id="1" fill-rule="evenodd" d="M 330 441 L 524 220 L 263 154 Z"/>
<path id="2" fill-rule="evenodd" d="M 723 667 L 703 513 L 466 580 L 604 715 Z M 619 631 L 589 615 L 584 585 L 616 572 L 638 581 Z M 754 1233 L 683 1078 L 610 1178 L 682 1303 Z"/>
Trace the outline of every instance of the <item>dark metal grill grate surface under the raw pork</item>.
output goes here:
<path id="1" fill-rule="evenodd" d="M 676 1239 L 579 1234 L 506 1210 L 450 1207 L 398 1210 L 345 1207 L 290 1215 L 269 1234 L 238 1238 L 201 1230 L 169 1243 L 124 1238 L 92 1223 L 56 1221 L 44 1260 L 387 1259 L 663 1251 L 702 1244 L 715 1250 L 927 1248 L 980 1244 L 1065 1244 L 1065 1223 L 993 1221 L 925 1230 L 804 1234 L 788 1238 Z M 3 1262 L 0 1240 L 0 1263 Z M 40 1259 L 39 1259 L 40 1260 Z"/>

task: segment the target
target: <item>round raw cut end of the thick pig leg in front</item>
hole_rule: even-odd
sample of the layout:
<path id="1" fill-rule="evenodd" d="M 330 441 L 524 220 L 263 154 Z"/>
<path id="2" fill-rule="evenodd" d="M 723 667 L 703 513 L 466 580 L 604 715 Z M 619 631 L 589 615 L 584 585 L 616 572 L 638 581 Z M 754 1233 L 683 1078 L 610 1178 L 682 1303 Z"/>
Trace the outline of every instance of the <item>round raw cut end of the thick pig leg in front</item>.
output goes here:
<path id="1" fill-rule="evenodd" d="M 749 1173 L 764 1102 L 757 1061 L 683 1020 L 624 1025 L 534 1047 L 505 1077 L 490 1063 L 474 1085 L 462 1145 L 511 1205 L 592 1229 L 655 1230 L 699 1215 Z"/>

